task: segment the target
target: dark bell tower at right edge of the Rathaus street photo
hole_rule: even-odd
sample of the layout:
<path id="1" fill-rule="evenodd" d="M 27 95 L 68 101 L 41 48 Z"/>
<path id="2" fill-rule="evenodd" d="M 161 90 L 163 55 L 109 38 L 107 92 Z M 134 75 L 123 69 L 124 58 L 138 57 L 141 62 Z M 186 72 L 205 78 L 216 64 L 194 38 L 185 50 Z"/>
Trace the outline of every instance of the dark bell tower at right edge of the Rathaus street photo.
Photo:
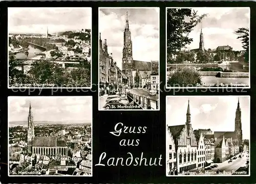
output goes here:
<path id="1" fill-rule="evenodd" d="M 241 109 L 240 102 L 238 98 L 238 107 L 236 110 L 236 118 L 234 119 L 234 132 L 238 140 L 238 144 L 242 145 L 242 122 L 241 122 Z"/>

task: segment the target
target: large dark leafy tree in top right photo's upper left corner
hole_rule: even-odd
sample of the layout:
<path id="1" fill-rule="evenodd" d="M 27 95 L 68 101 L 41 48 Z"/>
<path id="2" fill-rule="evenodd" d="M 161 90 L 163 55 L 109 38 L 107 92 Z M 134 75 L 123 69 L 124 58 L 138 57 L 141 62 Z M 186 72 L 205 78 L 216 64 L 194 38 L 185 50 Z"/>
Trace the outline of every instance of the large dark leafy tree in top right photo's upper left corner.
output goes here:
<path id="1" fill-rule="evenodd" d="M 186 21 L 184 17 L 187 17 L 189 21 Z M 193 38 L 189 38 L 188 34 L 204 17 L 206 14 L 199 16 L 193 9 L 167 9 L 167 53 L 174 54 L 190 44 Z"/>

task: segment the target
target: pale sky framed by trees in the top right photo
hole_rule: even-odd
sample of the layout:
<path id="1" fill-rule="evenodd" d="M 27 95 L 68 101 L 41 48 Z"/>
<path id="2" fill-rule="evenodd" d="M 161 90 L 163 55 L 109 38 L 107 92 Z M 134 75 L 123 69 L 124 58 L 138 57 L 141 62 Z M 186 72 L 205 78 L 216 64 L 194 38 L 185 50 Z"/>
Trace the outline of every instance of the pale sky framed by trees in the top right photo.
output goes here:
<path id="1" fill-rule="evenodd" d="M 244 50 L 242 42 L 240 39 L 237 39 L 238 35 L 235 31 L 238 28 L 249 28 L 250 8 L 201 7 L 193 9 L 198 11 L 198 15 L 207 14 L 207 17 L 190 32 L 189 38 L 194 40 L 191 44 L 186 45 L 186 47 L 189 49 L 199 48 L 202 26 L 205 49 L 229 45 L 233 50 Z"/>

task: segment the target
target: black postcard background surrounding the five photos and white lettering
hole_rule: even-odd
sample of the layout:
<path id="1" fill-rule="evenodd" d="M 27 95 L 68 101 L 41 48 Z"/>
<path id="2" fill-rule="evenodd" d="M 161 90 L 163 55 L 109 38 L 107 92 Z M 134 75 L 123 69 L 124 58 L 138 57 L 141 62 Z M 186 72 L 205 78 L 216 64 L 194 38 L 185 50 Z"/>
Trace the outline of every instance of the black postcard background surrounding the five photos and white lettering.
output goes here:
<path id="1" fill-rule="evenodd" d="M 1 176 L 2 183 L 255 183 L 255 2 L 0 2 L 1 7 Z M 98 84 L 98 7 L 160 7 L 160 89 L 165 85 L 165 7 L 250 7 L 250 80 L 251 89 L 225 90 L 211 89 L 207 92 L 199 89 L 163 90 L 160 93 L 160 111 L 98 111 L 98 91 L 88 92 L 59 90 L 56 96 L 93 96 L 93 176 L 92 177 L 8 177 L 8 96 L 37 96 L 39 90 L 30 92 L 14 92 L 7 89 L 7 7 L 92 7 L 92 82 Z M 31 17 L 31 18 L 36 18 Z M 148 17 L 150 18 L 150 17 Z M 74 20 L 75 21 L 75 20 Z M 112 33 L 114 34 L 114 33 Z M 93 91 L 97 87 L 93 85 Z M 42 90 L 41 96 L 50 96 L 51 89 Z M 251 96 L 251 139 L 250 139 L 250 177 L 166 177 L 165 176 L 165 98 L 167 95 L 250 95 Z M 179 108 L 179 107 L 176 107 Z M 85 112 L 86 115 L 86 112 Z M 184 114 L 185 115 L 185 114 Z M 109 132 L 114 130 L 116 123 L 126 126 L 147 126 L 146 134 L 125 134 L 120 137 Z M 119 146 L 121 139 L 140 139 L 139 146 Z M 127 152 L 134 157 L 159 157 L 162 154 L 163 166 L 95 166 L 99 156 L 106 152 L 109 157 L 127 157 Z"/>

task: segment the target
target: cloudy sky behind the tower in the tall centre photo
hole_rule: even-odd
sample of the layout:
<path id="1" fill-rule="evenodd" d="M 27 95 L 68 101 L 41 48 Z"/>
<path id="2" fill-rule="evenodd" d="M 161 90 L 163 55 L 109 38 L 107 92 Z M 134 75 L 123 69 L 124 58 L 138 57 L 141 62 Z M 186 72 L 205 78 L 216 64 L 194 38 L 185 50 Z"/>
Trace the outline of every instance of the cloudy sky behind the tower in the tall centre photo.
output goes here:
<path id="1" fill-rule="evenodd" d="M 128 12 L 133 59 L 159 61 L 159 8 L 100 8 L 99 32 L 106 39 L 109 54 L 122 66 L 123 31 Z"/>

